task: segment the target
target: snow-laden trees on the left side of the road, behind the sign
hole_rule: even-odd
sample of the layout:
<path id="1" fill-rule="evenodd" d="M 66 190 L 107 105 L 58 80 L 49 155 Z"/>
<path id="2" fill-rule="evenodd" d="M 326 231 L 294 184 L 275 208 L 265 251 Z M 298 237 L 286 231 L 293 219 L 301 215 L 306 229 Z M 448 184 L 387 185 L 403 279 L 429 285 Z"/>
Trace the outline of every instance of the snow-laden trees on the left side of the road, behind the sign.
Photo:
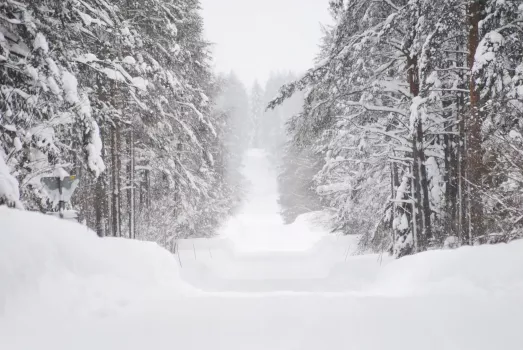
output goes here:
<path id="1" fill-rule="evenodd" d="M 41 178 L 76 175 L 100 236 L 214 233 L 238 200 L 224 88 L 198 0 L 0 1 L 0 204 L 56 210 Z"/>

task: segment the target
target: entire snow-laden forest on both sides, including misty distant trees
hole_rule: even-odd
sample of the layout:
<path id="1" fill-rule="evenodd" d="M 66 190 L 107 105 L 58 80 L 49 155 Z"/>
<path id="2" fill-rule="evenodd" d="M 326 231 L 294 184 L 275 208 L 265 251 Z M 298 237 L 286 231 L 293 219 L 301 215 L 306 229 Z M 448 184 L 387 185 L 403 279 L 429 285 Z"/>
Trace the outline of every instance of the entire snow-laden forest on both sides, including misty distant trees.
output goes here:
<path id="1" fill-rule="evenodd" d="M 331 0 L 316 66 L 213 73 L 198 0 L 0 1 L 0 204 L 100 236 L 211 236 L 268 151 L 287 223 L 397 257 L 523 236 L 523 5 Z M 269 107 L 267 109 L 267 106 Z"/>

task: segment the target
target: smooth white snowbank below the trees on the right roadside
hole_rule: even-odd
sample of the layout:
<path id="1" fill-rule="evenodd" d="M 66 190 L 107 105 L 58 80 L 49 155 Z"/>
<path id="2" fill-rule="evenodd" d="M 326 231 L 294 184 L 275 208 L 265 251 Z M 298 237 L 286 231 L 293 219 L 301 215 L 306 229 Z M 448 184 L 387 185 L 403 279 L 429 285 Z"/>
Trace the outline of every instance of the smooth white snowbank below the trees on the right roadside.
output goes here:
<path id="1" fill-rule="evenodd" d="M 523 240 L 391 260 L 380 269 L 369 292 L 523 296 Z"/>

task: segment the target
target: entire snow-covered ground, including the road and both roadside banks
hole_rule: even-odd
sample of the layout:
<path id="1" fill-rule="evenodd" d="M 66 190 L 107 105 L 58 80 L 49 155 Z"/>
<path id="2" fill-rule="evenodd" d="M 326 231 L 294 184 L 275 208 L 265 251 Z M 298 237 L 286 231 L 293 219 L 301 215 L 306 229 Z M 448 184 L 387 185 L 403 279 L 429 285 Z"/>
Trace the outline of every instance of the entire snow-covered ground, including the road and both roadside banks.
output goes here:
<path id="1" fill-rule="evenodd" d="M 0 349 L 523 349 L 523 242 L 352 256 L 324 213 L 285 226 L 265 154 L 219 238 L 98 239 L 0 208 Z"/>

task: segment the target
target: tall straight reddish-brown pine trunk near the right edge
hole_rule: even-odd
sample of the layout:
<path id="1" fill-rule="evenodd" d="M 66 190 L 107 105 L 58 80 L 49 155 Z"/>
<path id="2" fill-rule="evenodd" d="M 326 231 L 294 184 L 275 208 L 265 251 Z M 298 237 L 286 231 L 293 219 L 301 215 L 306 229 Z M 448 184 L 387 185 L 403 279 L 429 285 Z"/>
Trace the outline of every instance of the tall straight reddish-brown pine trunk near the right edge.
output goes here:
<path id="1" fill-rule="evenodd" d="M 479 22 L 483 16 L 484 0 L 469 0 L 468 12 L 468 66 L 471 69 L 469 81 L 470 111 L 465 121 L 467 136 L 467 186 L 469 188 L 469 244 L 474 237 L 483 235 L 483 203 L 481 200 L 481 179 L 483 174 L 483 150 L 481 147 L 481 95 L 472 72 L 474 56 L 479 44 Z"/>

